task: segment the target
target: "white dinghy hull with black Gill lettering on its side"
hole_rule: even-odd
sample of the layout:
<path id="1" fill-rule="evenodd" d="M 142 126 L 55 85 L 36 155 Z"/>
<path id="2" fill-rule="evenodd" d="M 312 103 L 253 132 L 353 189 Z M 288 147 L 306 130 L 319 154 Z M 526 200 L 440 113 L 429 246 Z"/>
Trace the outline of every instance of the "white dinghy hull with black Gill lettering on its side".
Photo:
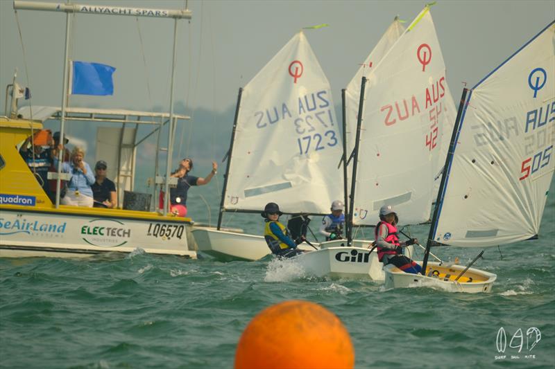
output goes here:
<path id="1" fill-rule="evenodd" d="M 366 247 L 332 246 L 302 253 L 295 260 L 310 276 L 384 280 L 383 264 Z"/>

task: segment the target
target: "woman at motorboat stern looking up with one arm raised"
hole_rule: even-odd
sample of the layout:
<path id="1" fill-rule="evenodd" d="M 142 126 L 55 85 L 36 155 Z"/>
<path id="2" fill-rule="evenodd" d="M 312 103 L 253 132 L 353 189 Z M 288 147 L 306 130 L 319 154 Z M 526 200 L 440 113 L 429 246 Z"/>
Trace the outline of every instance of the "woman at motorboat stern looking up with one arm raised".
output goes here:
<path id="1" fill-rule="evenodd" d="M 210 183 L 218 172 L 218 163 L 212 161 L 212 172 L 208 173 L 206 177 L 191 176 L 189 175 L 191 170 L 193 170 L 193 159 L 185 158 L 180 162 L 179 168 L 171 174 L 171 177 L 176 177 L 178 179 L 178 185 L 176 188 L 170 188 L 169 190 L 170 211 L 178 217 L 187 216 L 186 203 L 189 188 L 191 188 L 191 186 L 203 186 Z M 164 192 L 160 192 L 161 208 L 164 206 L 163 198 Z"/>

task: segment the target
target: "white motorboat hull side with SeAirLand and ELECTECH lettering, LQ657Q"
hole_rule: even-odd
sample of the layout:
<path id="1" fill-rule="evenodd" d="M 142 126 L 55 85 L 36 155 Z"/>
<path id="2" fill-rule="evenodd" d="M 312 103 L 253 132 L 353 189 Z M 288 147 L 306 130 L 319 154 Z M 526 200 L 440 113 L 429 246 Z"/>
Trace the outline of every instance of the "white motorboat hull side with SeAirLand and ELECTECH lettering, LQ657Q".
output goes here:
<path id="1" fill-rule="evenodd" d="M 196 259 L 189 250 L 190 225 L 84 213 L 0 211 L 0 258 L 87 257 L 99 253 L 146 253 Z"/>

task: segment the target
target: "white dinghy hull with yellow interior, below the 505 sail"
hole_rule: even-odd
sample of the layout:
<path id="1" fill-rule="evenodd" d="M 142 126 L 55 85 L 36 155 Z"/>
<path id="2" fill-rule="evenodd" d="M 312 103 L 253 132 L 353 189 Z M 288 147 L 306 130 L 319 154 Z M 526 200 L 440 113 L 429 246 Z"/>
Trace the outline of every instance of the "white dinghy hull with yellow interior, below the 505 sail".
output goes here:
<path id="1" fill-rule="evenodd" d="M 422 262 L 417 262 L 422 265 Z M 440 266 L 438 262 L 428 262 L 428 273 L 438 271 L 438 276 L 422 276 L 421 274 L 404 273 L 393 264 L 384 267 L 385 287 L 409 288 L 409 287 L 431 287 L 443 289 L 450 292 L 466 292 L 467 294 L 478 294 L 491 292 L 493 282 L 497 275 L 479 269 L 469 268 L 458 280 L 454 279 L 465 269 L 463 265 Z M 472 278 L 472 280 L 469 280 Z"/>

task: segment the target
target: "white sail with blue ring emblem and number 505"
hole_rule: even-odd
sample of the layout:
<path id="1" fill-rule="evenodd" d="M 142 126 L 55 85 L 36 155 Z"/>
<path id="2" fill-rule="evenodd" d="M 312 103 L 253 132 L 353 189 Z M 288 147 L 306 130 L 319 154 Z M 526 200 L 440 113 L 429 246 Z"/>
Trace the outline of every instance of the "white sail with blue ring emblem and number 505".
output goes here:
<path id="1" fill-rule="evenodd" d="M 555 25 L 467 97 L 434 240 L 494 246 L 538 234 L 555 169 Z"/>

